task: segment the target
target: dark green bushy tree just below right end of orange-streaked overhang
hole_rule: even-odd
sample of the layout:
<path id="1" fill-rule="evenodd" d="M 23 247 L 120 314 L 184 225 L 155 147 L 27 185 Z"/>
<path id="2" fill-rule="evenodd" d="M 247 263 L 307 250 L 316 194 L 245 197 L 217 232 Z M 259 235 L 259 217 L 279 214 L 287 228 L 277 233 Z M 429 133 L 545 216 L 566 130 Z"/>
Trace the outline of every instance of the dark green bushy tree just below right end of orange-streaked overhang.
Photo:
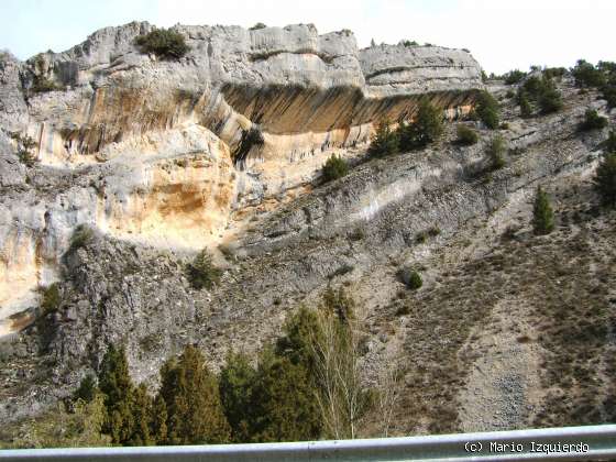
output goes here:
<path id="1" fill-rule="evenodd" d="M 413 122 L 400 124 L 398 132 L 400 151 L 425 147 L 437 141 L 443 132 L 442 111 L 428 99 L 422 99 Z"/>

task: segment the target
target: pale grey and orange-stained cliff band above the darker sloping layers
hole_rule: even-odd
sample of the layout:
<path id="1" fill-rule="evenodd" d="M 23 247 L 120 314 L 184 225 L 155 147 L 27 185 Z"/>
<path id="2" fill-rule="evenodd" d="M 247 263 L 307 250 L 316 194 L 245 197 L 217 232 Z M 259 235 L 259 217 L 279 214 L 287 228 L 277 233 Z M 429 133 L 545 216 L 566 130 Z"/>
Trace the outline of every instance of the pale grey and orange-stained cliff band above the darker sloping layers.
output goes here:
<path id="1" fill-rule="evenodd" d="M 413 118 L 425 96 L 455 117 L 482 88 L 460 50 L 359 50 L 350 31 L 311 24 L 176 25 L 190 51 L 163 61 L 134 44 L 153 29 L 106 28 L 26 62 L 0 56 L 0 334 L 58 277 L 77 226 L 213 246 L 308 190 L 332 153 L 362 153 L 376 123 Z M 33 91 L 36 80 L 53 90 Z M 32 165 L 18 156 L 25 136 Z"/>

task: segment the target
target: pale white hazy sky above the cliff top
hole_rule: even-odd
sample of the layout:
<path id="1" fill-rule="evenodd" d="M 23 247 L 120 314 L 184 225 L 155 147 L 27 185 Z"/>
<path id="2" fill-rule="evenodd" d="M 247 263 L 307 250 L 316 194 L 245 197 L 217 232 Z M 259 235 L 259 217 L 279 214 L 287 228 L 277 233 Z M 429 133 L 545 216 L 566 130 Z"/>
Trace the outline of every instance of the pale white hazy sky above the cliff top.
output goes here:
<path id="1" fill-rule="evenodd" d="M 133 20 L 158 26 L 314 23 L 360 47 L 400 38 L 471 50 L 487 73 L 616 61 L 616 0 L 0 0 L 0 48 L 25 59 Z"/>

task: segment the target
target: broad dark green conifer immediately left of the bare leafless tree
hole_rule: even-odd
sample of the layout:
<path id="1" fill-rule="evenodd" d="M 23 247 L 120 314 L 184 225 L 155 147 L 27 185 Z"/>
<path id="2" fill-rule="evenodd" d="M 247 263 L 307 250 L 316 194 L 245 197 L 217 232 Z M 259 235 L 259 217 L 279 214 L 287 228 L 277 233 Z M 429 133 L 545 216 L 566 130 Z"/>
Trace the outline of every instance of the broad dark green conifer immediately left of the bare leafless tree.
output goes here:
<path id="1" fill-rule="evenodd" d="M 321 416 L 307 369 L 265 349 L 252 394 L 253 440 L 304 441 L 321 435 Z"/>

